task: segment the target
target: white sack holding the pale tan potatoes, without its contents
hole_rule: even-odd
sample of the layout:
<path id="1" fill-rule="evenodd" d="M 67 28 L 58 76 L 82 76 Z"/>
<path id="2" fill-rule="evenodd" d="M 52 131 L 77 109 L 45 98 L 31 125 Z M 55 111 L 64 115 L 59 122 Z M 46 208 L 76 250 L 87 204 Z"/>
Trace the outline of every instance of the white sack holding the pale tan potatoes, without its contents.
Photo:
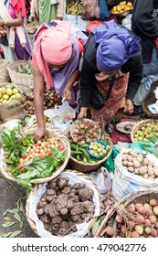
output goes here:
<path id="1" fill-rule="evenodd" d="M 123 153 L 128 153 L 132 149 L 126 149 L 121 151 L 114 160 L 115 172 L 112 178 L 112 194 L 115 201 L 119 201 L 121 198 L 126 197 L 133 191 L 140 190 L 158 190 L 158 178 L 145 179 L 142 176 L 134 175 L 127 171 L 127 169 L 121 164 Z M 138 153 L 143 153 L 142 150 L 135 149 Z M 154 155 L 147 154 L 146 157 L 154 162 L 154 165 L 158 166 L 158 159 Z"/>

